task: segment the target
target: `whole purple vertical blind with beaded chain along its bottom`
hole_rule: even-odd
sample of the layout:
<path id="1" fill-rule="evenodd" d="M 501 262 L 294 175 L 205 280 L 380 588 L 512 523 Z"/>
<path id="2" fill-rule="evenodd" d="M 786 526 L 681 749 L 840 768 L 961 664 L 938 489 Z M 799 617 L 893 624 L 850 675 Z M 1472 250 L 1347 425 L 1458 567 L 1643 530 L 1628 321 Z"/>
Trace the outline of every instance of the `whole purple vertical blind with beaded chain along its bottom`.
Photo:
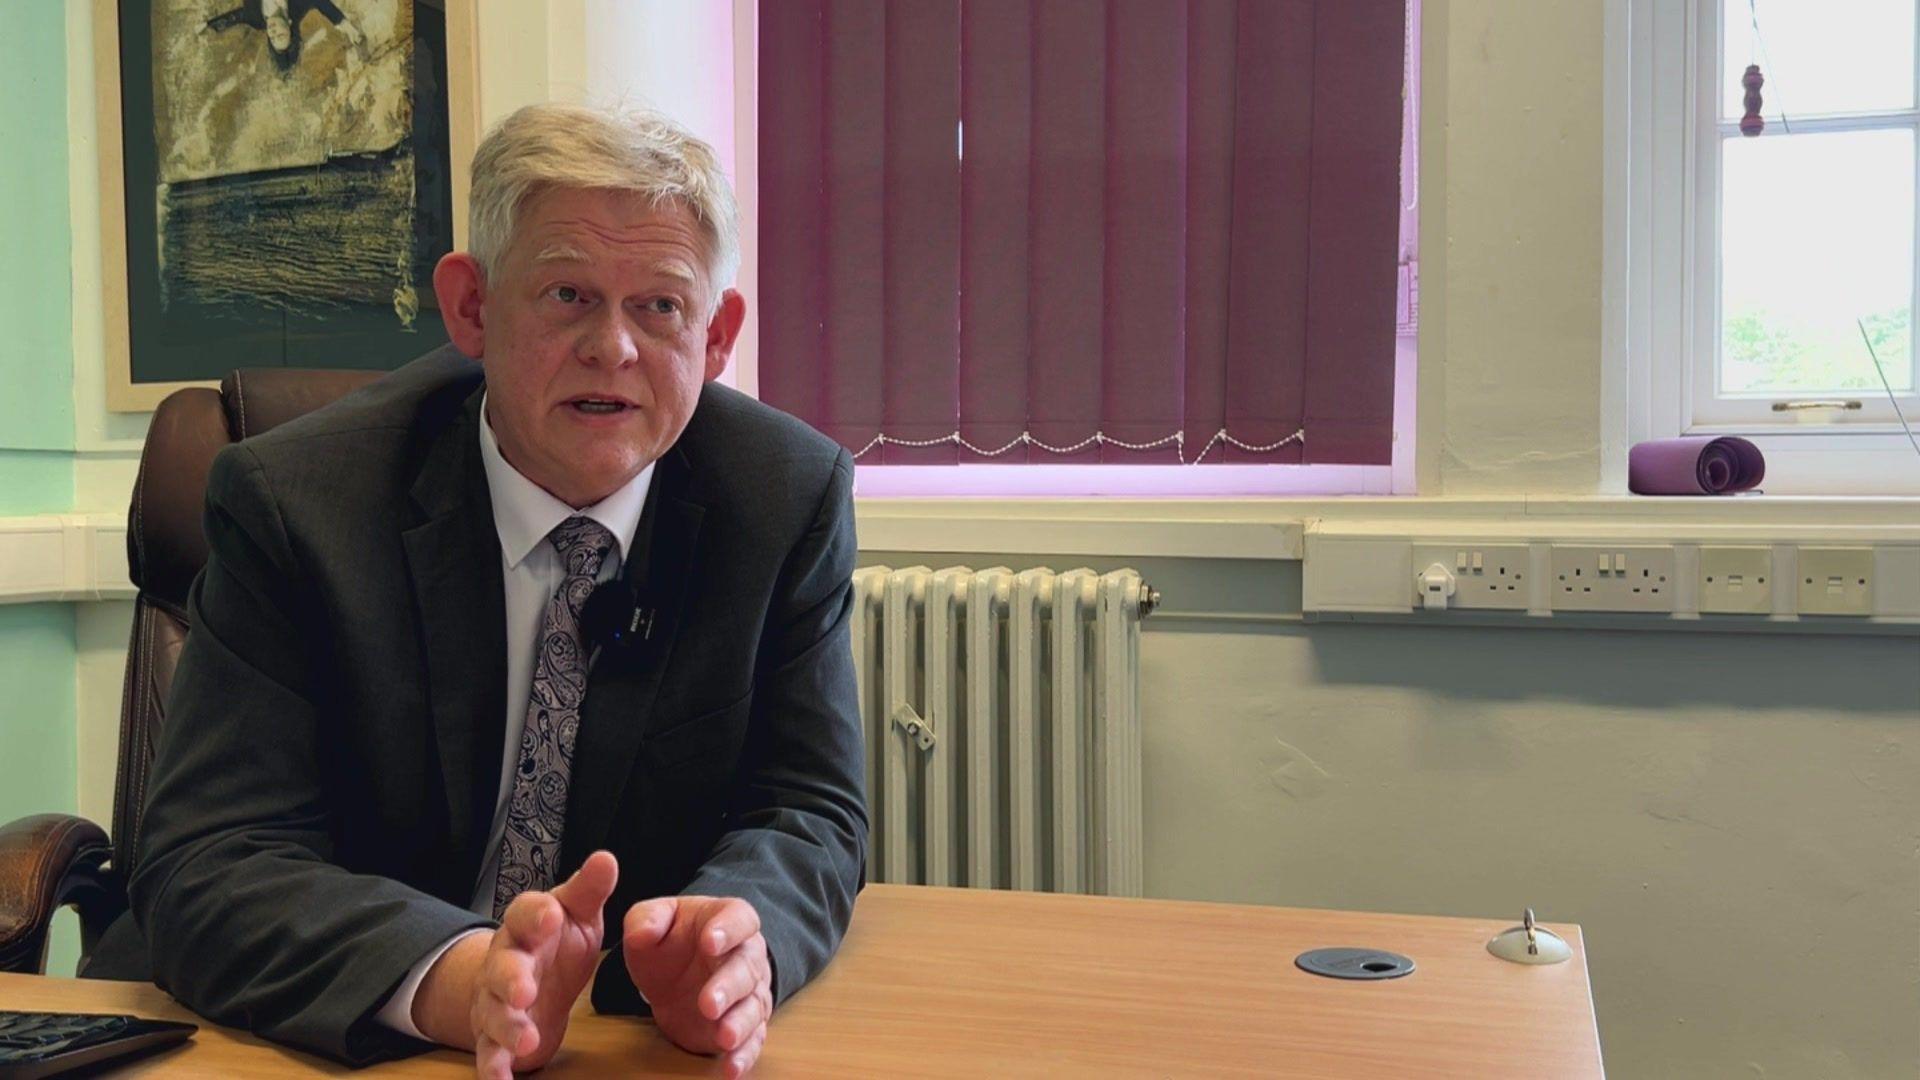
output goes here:
<path id="1" fill-rule="evenodd" d="M 1405 12 L 762 2 L 762 398 L 862 463 L 1388 463 Z"/>

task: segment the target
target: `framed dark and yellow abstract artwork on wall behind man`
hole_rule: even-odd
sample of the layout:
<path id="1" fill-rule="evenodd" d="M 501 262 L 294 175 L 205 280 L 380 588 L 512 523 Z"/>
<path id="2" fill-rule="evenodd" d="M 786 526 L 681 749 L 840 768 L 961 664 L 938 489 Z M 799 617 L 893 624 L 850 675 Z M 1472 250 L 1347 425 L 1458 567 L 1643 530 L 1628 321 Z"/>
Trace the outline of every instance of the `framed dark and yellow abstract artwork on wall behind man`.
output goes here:
<path id="1" fill-rule="evenodd" d="M 445 342 L 472 0 L 94 0 L 108 407 Z"/>

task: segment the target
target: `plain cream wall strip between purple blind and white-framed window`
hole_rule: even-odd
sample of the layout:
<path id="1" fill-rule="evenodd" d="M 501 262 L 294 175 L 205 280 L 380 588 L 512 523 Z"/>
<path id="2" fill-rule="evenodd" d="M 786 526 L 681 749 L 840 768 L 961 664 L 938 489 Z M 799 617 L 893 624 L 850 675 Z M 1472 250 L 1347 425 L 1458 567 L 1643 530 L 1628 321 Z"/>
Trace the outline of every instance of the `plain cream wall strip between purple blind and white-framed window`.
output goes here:
<path id="1" fill-rule="evenodd" d="M 1423 494 L 1601 482 L 1603 6 L 1428 0 Z"/>

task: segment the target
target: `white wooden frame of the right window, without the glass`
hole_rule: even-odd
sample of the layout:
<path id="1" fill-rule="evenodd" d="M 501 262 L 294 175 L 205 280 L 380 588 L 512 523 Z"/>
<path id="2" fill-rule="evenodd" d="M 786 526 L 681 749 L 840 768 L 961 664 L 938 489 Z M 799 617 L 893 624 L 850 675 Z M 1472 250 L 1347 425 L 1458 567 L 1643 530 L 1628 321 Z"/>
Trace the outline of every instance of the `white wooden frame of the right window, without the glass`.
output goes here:
<path id="1" fill-rule="evenodd" d="M 1884 392 L 1847 394 L 1860 409 L 1789 413 L 1774 411 L 1772 404 L 1791 398 L 1715 396 L 1720 2 L 1628 0 L 1611 13 L 1607 33 L 1605 309 L 1613 331 L 1609 363 L 1624 369 L 1628 440 L 1753 438 L 1768 463 L 1763 490 L 1774 494 L 1920 494 L 1920 455 Z M 1899 115 L 1920 138 L 1920 108 Z M 1793 125 L 1799 133 L 1862 127 L 1853 119 L 1793 119 Z M 1920 273 L 1914 277 L 1920 286 Z M 1908 423 L 1920 423 L 1920 386 L 1914 390 L 1899 398 Z"/>

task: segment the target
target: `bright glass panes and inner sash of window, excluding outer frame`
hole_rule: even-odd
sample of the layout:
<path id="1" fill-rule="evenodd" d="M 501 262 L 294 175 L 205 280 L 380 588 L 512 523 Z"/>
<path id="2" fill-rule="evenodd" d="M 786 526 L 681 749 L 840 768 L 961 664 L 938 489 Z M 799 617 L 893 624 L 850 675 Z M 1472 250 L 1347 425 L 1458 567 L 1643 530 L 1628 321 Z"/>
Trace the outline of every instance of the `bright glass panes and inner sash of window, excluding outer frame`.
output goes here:
<path id="1" fill-rule="evenodd" d="M 1891 423 L 1887 386 L 1903 405 L 1916 386 L 1914 0 L 1715 6 L 1701 194 L 1716 196 L 1718 298 L 1701 307 L 1713 354 L 1693 365 L 1695 421 Z M 1757 136 L 1740 127 L 1749 63 L 1764 77 Z"/>

